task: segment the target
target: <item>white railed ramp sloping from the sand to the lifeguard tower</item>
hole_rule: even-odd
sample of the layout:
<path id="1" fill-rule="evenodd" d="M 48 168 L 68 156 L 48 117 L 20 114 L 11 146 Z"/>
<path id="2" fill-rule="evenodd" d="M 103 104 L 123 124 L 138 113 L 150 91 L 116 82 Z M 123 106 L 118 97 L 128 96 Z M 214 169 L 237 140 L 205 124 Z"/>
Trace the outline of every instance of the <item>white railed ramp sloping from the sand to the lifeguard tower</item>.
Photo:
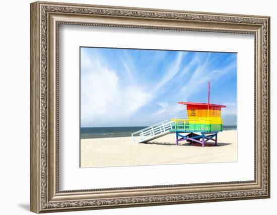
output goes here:
<path id="1" fill-rule="evenodd" d="M 159 136 L 170 133 L 170 129 L 172 129 L 172 125 L 174 123 L 174 121 L 165 120 L 142 130 L 136 131 L 131 134 L 133 142 L 145 142 L 147 140 L 155 139 Z"/>

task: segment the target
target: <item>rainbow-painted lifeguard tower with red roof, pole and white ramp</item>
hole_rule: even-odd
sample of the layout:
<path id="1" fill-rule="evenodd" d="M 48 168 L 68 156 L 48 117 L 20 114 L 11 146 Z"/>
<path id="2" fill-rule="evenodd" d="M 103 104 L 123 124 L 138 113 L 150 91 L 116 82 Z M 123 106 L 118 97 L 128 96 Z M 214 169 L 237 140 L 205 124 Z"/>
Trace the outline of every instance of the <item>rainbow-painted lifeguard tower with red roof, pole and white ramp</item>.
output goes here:
<path id="1" fill-rule="evenodd" d="M 179 141 L 198 142 L 204 147 L 209 140 L 217 145 L 218 132 L 223 129 L 221 108 L 225 105 L 210 104 L 210 82 L 208 102 L 178 102 L 187 106 L 187 119 L 166 120 L 132 133 L 134 142 L 147 142 L 168 133 L 176 133 L 176 145 Z M 197 133 L 198 134 L 197 134 Z M 187 133 L 187 134 L 186 134 Z"/>

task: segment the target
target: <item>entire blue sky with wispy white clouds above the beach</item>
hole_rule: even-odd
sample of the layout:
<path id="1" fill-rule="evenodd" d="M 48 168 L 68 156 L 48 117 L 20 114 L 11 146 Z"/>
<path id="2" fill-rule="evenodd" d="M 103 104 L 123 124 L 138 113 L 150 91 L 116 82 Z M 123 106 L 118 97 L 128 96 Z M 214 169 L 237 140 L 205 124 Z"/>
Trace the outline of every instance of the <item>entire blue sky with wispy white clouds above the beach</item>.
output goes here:
<path id="1" fill-rule="evenodd" d="M 236 124 L 236 53 L 81 47 L 81 127 L 186 118 L 177 102 L 207 102 L 209 81 L 210 102 Z"/>

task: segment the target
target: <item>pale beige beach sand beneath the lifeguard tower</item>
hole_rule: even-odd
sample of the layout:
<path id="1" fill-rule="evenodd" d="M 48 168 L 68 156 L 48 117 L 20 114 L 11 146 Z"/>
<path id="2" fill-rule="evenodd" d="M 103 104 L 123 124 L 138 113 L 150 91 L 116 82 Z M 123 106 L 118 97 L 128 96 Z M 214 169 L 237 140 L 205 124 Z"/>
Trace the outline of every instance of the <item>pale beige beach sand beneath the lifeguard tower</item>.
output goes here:
<path id="1" fill-rule="evenodd" d="M 209 141 L 210 142 L 210 141 Z M 211 141 L 214 145 L 214 142 Z M 189 164 L 237 161 L 237 130 L 218 133 L 218 146 L 175 145 L 175 133 L 148 144 L 131 137 L 81 139 L 81 167 Z"/>

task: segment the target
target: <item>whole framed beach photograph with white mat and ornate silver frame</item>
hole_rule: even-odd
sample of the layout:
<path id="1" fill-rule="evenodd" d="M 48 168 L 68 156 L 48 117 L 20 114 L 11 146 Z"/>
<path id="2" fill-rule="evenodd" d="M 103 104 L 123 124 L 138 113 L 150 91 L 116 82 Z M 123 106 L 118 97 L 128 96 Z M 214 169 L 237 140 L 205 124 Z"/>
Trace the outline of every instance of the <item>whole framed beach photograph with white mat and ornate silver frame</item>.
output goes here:
<path id="1" fill-rule="evenodd" d="M 30 11 L 31 211 L 270 197 L 269 17 Z"/>

